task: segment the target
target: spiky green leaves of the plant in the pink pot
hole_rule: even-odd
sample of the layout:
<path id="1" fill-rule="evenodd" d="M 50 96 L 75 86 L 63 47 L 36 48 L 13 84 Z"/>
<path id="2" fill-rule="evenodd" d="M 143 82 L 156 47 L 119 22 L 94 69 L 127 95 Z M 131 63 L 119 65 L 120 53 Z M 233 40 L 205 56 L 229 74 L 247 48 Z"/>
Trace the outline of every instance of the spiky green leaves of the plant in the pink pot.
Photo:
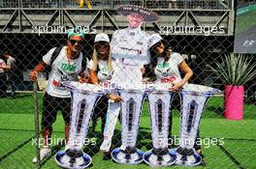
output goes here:
<path id="1" fill-rule="evenodd" d="M 210 69 L 227 85 L 240 86 L 256 77 L 256 63 L 242 54 L 225 55 L 216 63 L 216 69 Z"/>

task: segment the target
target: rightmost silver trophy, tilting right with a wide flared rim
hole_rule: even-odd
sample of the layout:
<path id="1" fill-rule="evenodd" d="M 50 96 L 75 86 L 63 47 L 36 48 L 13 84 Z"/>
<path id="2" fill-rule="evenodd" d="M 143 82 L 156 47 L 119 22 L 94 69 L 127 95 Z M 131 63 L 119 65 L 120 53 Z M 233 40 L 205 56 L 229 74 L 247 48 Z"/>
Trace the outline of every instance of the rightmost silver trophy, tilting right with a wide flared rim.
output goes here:
<path id="1" fill-rule="evenodd" d="M 196 166 L 201 163 L 202 157 L 193 147 L 206 102 L 211 95 L 219 92 L 217 89 L 195 84 L 186 84 L 179 92 L 182 108 L 180 142 L 178 148 L 176 148 L 177 165 Z"/>

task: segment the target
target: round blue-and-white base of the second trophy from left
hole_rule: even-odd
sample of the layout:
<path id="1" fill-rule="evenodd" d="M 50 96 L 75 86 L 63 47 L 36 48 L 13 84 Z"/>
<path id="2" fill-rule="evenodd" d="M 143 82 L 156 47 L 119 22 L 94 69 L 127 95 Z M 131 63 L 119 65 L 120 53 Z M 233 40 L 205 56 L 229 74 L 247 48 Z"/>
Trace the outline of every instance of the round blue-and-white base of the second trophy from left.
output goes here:
<path id="1" fill-rule="evenodd" d="M 132 147 L 127 147 L 125 150 L 117 148 L 112 151 L 112 159 L 121 164 L 139 164 L 144 160 L 144 153 Z"/>

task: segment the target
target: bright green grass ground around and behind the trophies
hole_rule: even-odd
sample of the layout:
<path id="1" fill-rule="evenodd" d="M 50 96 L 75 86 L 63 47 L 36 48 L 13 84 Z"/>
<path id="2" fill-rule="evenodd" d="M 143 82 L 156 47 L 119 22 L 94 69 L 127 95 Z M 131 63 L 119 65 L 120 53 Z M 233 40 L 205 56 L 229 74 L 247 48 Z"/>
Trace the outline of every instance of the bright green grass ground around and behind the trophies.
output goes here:
<path id="1" fill-rule="evenodd" d="M 39 106 L 42 110 L 42 95 L 39 95 Z M 32 145 L 32 137 L 34 131 L 34 104 L 32 94 L 19 94 L 16 99 L 0 99 L 0 168 L 35 168 L 31 162 L 35 155 L 35 147 Z M 141 130 L 138 138 L 138 147 L 146 151 L 151 147 L 150 121 L 147 111 L 147 102 L 144 103 L 143 114 L 141 118 Z M 244 168 L 255 168 L 254 159 L 256 153 L 253 148 L 256 144 L 256 106 L 253 104 L 244 104 L 244 120 L 228 121 L 221 115 L 223 111 L 223 98 L 214 97 L 208 100 L 207 107 L 204 111 L 201 124 L 201 137 L 207 138 L 204 141 L 203 153 L 207 162 L 206 167 L 197 168 L 237 168 L 234 163 L 234 157 L 240 166 Z M 173 135 L 179 134 L 179 114 L 174 111 Z M 63 121 L 59 114 L 57 121 L 54 123 L 53 138 L 63 138 Z M 116 127 L 113 139 L 113 147 L 120 145 L 120 125 Z M 109 169 L 125 169 L 125 168 L 150 168 L 142 163 L 136 166 L 121 165 L 112 162 L 112 160 L 103 159 L 103 155 L 99 153 L 99 145 L 102 136 L 99 132 L 100 124 L 97 126 L 97 135 L 89 133 L 89 138 L 95 137 L 96 146 L 89 145 L 84 148 L 84 152 L 92 156 L 93 165 L 90 168 L 109 168 Z M 210 145 L 209 142 L 217 138 L 222 139 L 224 145 Z M 60 147 L 55 147 L 54 155 Z M 225 151 L 224 151 L 225 150 Z M 227 154 L 228 152 L 228 154 Z M 232 156 L 232 157 L 231 157 Z M 58 168 L 54 158 L 51 156 L 43 161 L 42 168 L 52 169 Z M 187 168 L 172 166 L 172 168 Z"/>

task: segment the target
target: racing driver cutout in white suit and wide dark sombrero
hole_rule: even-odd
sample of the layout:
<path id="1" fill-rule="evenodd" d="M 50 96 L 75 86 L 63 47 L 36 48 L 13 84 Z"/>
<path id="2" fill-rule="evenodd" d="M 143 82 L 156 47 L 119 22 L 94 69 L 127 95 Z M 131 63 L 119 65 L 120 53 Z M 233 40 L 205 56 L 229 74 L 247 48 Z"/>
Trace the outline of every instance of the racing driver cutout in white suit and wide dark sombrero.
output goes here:
<path id="1" fill-rule="evenodd" d="M 112 83 L 117 85 L 120 83 L 139 84 L 143 80 L 144 65 L 150 62 L 147 51 L 149 35 L 141 30 L 141 24 L 144 21 L 156 21 L 158 15 L 135 5 L 120 6 L 117 13 L 126 16 L 129 26 L 125 29 L 116 30 L 112 35 L 112 58 L 116 64 Z M 112 107 L 109 107 L 108 110 L 109 120 L 112 123 L 109 124 L 109 129 L 105 129 L 104 142 L 100 147 L 103 152 L 110 151 L 113 129 L 119 111 L 120 103 L 112 102 Z"/>

